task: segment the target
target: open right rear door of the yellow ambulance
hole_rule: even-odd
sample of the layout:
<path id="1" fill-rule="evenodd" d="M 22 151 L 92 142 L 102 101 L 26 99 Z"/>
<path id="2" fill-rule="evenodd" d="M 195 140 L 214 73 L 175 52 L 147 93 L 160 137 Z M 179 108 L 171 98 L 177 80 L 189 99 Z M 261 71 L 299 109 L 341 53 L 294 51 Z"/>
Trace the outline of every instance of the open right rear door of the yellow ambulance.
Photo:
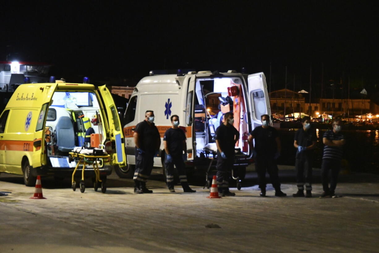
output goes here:
<path id="1" fill-rule="evenodd" d="M 124 134 L 122 133 L 122 126 L 117 112 L 117 107 L 114 104 L 112 94 L 105 87 L 99 87 L 100 94 L 103 98 L 105 110 L 108 115 L 108 131 L 111 141 L 116 143 L 116 154 L 113 154 L 113 164 L 119 166 L 126 166 L 125 147 L 124 147 Z M 116 162 L 115 162 L 116 161 Z"/>

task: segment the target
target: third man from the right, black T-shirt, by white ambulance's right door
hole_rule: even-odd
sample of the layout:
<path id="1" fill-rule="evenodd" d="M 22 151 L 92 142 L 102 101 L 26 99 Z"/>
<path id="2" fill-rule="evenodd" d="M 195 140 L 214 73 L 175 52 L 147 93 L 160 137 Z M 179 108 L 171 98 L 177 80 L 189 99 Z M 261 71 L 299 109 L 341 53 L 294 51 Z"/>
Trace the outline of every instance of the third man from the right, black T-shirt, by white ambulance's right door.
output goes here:
<path id="1" fill-rule="evenodd" d="M 271 183 L 275 189 L 275 196 L 285 197 L 287 194 L 280 190 L 277 158 L 280 156 L 280 139 L 277 131 L 269 126 L 270 117 L 267 114 L 261 116 L 262 126 L 257 126 L 249 135 L 249 145 L 255 158 L 255 170 L 258 174 L 260 196 L 266 196 L 266 171 L 270 175 Z M 253 145 L 255 139 L 255 148 Z"/>

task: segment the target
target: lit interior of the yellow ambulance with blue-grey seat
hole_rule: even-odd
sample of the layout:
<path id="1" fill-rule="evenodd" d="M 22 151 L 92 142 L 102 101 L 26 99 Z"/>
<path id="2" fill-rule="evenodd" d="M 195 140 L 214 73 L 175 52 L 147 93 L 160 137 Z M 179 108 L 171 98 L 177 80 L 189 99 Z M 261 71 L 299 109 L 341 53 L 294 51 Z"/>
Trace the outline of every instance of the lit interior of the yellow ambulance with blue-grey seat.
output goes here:
<path id="1" fill-rule="evenodd" d="M 45 124 L 47 155 L 53 167 L 72 167 L 74 164 L 68 163 L 66 157 L 75 147 L 102 144 L 99 101 L 92 92 L 55 92 L 52 100 Z M 57 159 L 60 157 L 68 164 Z"/>

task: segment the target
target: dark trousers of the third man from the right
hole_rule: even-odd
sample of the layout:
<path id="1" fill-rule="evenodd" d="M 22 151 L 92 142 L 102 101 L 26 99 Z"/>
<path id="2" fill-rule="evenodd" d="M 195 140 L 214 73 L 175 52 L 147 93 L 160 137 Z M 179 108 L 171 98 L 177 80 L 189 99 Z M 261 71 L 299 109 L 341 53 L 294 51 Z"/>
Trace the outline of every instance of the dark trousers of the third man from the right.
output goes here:
<path id="1" fill-rule="evenodd" d="M 273 156 L 257 155 L 255 158 L 255 171 L 258 175 L 258 185 L 261 191 L 266 190 L 266 171 L 270 176 L 271 183 L 274 189 L 280 190 L 280 182 L 278 176 L 278 166 Z"/>

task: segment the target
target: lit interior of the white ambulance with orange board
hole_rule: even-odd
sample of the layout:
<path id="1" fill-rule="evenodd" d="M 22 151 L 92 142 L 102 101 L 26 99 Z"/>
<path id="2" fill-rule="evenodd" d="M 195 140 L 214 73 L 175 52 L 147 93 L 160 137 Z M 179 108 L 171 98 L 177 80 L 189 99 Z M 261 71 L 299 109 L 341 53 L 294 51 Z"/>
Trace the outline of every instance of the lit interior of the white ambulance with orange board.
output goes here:
<path id="1" fill-rule="evenodd" d="M 240 132 L 236 154 L 248 154 L 247 110 L 243 82 L 239 77 L 199 78 L 194 102 L 194 133 L 197 157 L 213 157 L 217 147 L 215 133 L 224 122 L 223 114 L 233 112 L 233 126 Z"/>

